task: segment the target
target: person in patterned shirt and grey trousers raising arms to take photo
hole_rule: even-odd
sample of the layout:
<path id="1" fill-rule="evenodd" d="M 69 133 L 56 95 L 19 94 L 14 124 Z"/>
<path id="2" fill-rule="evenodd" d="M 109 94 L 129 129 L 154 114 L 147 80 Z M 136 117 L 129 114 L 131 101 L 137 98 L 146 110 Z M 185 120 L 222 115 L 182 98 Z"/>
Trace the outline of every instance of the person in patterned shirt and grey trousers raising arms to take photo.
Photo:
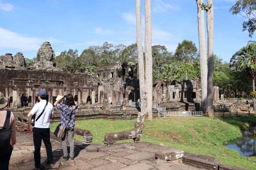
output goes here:
<path id="1" fill-rule="evenodd" d="M 70 146 L 69 157 L 74 160 L 74 127 L 75 127 L 75 113 L 77 109 L 77 101 L 74 101 L 72 94 L 65 96 L 58 96 L 54 106 L 61 110 L 60 124 L 66 127 L 64 137 L 62 140 L 63 159 L 68 160 L 67 143 Z M 61 102 L 60 102 L 61 101 Z"/>

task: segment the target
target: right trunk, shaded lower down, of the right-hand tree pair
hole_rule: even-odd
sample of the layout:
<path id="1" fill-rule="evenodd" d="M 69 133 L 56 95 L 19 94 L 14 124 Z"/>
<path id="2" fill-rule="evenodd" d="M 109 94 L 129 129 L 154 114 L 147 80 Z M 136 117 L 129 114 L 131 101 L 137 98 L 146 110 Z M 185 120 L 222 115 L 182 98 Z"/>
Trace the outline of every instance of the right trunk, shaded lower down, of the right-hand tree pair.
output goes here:
<path id="1" fill-rule="evenodd" d="M 214 46 L 214 15 L 212 0 L 207 0 L 207 38 L 208 38 L 208 75 L 207 75 L 207 113 L 209 117 L 214 117 L 213 111 L 213 46 Z"/>

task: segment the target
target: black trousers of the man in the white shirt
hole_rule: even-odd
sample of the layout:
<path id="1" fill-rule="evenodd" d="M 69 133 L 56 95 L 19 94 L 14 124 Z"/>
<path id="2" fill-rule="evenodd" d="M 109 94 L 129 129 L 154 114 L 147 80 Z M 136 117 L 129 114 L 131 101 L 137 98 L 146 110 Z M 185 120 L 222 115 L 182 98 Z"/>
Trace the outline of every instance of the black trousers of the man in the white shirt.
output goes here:
<path id="1" fill-rule="evenodd" d="M 42 139 L 44 141 L 44 145 L 47 152 L 47 163 L 53 163 L 52 157 L 52 145 L 50 141 L 50 128 L 33 128 L 33 141 L 35 146 L 35 153 L 34 153 L 34 160 L 35 160 L 35 167 L 39 167 L 41 164 L 41 156 L 40 156 L 40 149 L 42 145 Z"/>

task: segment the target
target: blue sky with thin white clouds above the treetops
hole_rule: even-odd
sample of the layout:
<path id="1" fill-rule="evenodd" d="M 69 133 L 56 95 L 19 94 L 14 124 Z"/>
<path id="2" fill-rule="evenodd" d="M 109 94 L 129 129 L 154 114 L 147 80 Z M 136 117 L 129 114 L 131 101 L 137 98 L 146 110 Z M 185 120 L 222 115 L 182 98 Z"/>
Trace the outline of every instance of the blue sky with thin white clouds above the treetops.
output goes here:
<path id="1" fill-rule="evenodd" d="M 227 62 L 255 40 L 242 31 L 245 18 L 230 13 L 235 2 L 213 0 L 214 53 Z M 198 47 L 196 15 L 195 0 L 152 0 L 152 45 L 175 52 L 188 39 Z M 22 52 L 26 58 L 36 57 L 44 41 L 56 55 L 70 48 L 81 53 L 105 41 L 131 45 L 136 42 L 135 0 L 0 0 L 0 38 L 0 55 Z"/>

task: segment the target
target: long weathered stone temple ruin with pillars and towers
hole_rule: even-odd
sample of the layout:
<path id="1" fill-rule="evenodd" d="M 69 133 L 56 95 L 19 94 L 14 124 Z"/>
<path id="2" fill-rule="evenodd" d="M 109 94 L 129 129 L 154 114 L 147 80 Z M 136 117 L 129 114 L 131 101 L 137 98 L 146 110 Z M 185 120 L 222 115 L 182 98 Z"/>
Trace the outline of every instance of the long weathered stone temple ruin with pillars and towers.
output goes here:
<path id="1" fill-rule="evenodd" d="M 115 63 L 98 67 L 95 74 L 71 74 L 57 69 L 54 59 L 54 50 L 49 42 L 44 42 L 40 47 L 36 63 L 29 69 L 25 67 L 22 53 L 14 57 L 12 53 L 6 53 L 1 57 L 0 91 L 9 100 L 8 106 L 19 108 L 22 94 L 28 96 L 28 106 L 33 106 L 40 89 L 47 90 L 51 103 L 54 103 L 58 94 L 73 94 L 81 104 L 81 116 L 83 110 L 84 113 L 93 111 L 92 114 L 95 110 L 101 110 L 101 114 L 102 108 L 111 108 L 113 113 L 120 111 L 123 103 L 128 105 L 129 101 L 140 101 L 138 64 Z M 153 103 L 169 105 L 173 111 L 196 110 L 198 107 L 195 103 L 200 103 L 200 82 L 157 82 L 153 86 L 153 96 Z M 129 115 L 126 118 L 133 117 L 136 116 Z"/>

